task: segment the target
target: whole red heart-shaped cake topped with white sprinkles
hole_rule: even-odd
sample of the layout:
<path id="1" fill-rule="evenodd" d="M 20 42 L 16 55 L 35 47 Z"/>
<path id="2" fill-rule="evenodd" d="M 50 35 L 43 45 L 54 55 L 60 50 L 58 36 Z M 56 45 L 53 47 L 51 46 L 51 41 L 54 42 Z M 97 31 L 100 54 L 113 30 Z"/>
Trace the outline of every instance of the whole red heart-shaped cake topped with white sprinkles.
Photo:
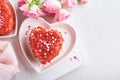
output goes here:
<path id="1" fill-rule="evenodd" d="M 37 27 L 32 29 L 29 41 L 34 56 L 46 64 L 60 53 L 64 39 L 57 30 Z"/>

